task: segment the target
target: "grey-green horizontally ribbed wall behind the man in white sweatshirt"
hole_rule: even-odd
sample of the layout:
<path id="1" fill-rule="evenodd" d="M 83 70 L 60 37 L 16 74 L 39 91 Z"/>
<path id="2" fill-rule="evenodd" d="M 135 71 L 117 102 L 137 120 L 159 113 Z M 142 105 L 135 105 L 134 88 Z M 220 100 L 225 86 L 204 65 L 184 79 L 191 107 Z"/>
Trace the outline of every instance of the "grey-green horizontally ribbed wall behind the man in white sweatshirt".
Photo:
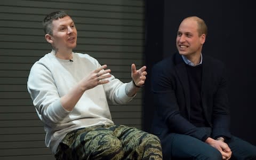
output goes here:
<path id="1" fill-rule="evenodd" d="M 131 81 L 131 63 L 143 65 L 142 0 L 0 1 L 0 159 L 54 159 L 44 144 L 27 77 L 33 63 L 51 51 L 41 22 L 56 10 L 75 21 L 75 52 L 107 64 L 123 82 Z M 110 105 L 114 122 L 141 129 L 141 105 L 141 92 L 127 105 Z"/>

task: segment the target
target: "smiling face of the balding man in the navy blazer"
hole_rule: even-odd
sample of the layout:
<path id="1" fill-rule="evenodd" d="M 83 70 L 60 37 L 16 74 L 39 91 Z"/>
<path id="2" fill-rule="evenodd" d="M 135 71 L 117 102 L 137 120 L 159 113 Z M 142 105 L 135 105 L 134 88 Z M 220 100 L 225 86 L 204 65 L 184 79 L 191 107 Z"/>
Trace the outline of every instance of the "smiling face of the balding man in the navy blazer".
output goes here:
<path id="1" fill-rule="evenodd" d="M 181 55 L 188 59 L 201 55 L 205 34 L 199 35 L 196 18 L 187 18 L 180 23 L 176 46 Z"/>

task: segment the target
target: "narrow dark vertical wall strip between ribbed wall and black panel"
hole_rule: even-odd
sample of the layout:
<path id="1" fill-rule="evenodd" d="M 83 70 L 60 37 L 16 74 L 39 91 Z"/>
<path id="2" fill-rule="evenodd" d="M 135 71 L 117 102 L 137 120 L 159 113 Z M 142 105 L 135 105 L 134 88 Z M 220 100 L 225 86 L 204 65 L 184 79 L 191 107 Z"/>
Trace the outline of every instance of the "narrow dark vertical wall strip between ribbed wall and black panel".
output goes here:
<path id="1" fill-rule="evenodd" d="M 149 132 L 153 118 L 153 94 L 151 93 L 151 69 L 163 59 L 163 23 L 164 1 L 145 1 L 145 60 L 147 65 L 147 81 L 145 82 L 145 98 L 143 98 L 142 126 Z"/>

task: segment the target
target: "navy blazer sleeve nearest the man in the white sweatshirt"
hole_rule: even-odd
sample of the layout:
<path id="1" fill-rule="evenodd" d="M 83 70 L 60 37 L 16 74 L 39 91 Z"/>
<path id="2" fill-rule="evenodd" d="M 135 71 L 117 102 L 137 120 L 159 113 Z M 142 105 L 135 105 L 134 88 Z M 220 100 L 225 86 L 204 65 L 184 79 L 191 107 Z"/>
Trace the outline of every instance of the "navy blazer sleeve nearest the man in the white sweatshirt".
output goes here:
<path id="1" fill-rule="evenodd" d="M 158 117 L 162 118 L 170 132 L 190 135 L 205 141 L 209 137 L 206 131 L 198 129 L 181 115 L 175 95 L 175 74 L 172 69 L 165 68 L 166 65 L 158 64 L 152 70 L 151 86 Z"/>

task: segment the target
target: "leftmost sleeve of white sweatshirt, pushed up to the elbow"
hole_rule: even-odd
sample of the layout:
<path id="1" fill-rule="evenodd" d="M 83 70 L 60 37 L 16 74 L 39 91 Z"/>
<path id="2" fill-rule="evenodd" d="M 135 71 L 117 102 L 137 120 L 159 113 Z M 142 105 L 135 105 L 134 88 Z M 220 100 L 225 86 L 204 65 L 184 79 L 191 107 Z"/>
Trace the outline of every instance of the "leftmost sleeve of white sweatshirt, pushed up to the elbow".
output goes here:
<path id="1" fill-rule="evenodd" d="M 62 121 L 70 113 L 62 107 L 51 71 L 42 63 L 31 67 L 27 88 L 39 118 L 47 125 Z"/>

